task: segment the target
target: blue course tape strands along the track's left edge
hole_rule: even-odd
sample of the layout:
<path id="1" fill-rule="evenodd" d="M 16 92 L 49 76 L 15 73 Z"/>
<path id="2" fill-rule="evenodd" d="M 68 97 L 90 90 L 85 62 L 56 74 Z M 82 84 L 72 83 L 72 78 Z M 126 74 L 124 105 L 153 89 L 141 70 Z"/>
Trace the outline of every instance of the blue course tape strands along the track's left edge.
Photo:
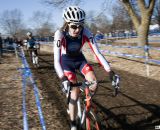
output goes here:
<path id="1" fill-rule="evenodd" d="M 36 105 L 37 105 L 38 114 L 39 114 L 39 118 L 40 118 L 40 124 L 42 126 L 42 130 L 46 130 L 46 125 L 45 125 L 44 117 L 43 117 L 43 114 L 42 114 L 41 103 L 40 103 L 40 99 L 39 99 L 39 96 L 38 96 L 38 88 L 36 86 L 35 81 L 33 80 L 33 76 L 32 76 L 31 70 L 29 68 L 29 65 L 27 63 L 27 60 L 25 58 L 25 54 L 24 54 L 23 50 L 21 50 L 20 57 L 22 59 L 22 63 L 23 63 L 23 66 L 24 66 L 24 68 L 22 68 L 22 70 L 23 70 L 23 77 L 25 77 L 25 78 L 29 77 L 30 78 L 30 81 L 31 81 L 31 83 L 33 85 L 34 95 L 35 95 L 35 99 L 36 99 Z M 25 98 L 24 98 L 24 100 L 25 100 Z M 25 105 L 25 102 L 24 102 L 23 105 Z M 26 114 L 26 108 L 25 107 L 24 107 L 23 111 L 24 111 L 23 113 L 24 113 L 24 118 L 25 118 L 25 121 L 24 121 L 24 130 L 27 130 L 28 124 L 27 124 L 27 121 L 26 121 L 26 115 L 27 114 Z"/>

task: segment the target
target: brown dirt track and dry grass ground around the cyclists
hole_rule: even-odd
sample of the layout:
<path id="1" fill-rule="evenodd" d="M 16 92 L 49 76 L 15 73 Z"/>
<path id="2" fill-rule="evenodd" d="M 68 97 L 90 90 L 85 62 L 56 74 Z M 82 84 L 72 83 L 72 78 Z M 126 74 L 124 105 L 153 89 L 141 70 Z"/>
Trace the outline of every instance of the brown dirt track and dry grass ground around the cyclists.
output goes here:
<path id="1" fill-rule="evenodd" d="M 85 52 L 89 60 L 93 57 Z M 39 97 L 47 130 L 69 130 L 65 96 L 53 67 L 53 53 L 40 52 L 40 67 L 35 69 L 29 61 L 39 89 Z M 112 96 L 109 77 L 99 64 L 90 62 L 99 81 L 94 96 L 103 130 L 154 130 L 160 125 L 160 66 L 146 66 L 138 59 L 105 56 L 112 69 L 121 76 L 121 89 Z M 22 67 L 15 54 L 4 54 L 0 64 L 0 130 L 22 130 Z M 26 88 L 26 109 L 30 130 L 41 130 L 34 91 L 29 79 Z"/>

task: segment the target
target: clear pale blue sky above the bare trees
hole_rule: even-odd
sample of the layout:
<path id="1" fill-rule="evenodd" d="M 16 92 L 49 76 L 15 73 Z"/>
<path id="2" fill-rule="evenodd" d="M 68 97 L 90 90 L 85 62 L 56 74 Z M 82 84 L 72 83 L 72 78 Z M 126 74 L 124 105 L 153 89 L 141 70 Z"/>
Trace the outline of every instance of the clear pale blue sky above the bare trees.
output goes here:
<path id="1" fill-rule="evenodd" d="M 86 2 L 84 2 L 86 1 Z M 102 12 L 101 7 L 104 0 L 83 0 L 79 5 L 86 12 L 95 11 L 95 16 Z M 1 0 L 0 15 L 5 10 L 18 9 L 22 11 L 24 22 L 30 24 L 29 19 L 32 17 L 33 12 L 38 10 L 46 13 L 51 13 L 51 23 L 60 27 L 63 24 L 62 12 L 63 9 L 55 9 L 50 5 L 42 3 L 42 0 Z"/>

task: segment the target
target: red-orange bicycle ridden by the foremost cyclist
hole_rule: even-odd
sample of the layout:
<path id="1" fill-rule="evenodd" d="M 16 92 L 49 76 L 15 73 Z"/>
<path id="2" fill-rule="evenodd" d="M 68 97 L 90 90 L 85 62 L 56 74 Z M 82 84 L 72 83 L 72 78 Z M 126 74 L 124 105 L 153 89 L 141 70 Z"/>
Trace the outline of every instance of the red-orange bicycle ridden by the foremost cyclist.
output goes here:
<path id="1" fill-rule="evenodd" d="M 93 94 L 89 90 L 92 83 L 78 82 L 70 84 L 67 90 L 67 104 L 69 104 L 72 87 L 80 87 L 80 96 L 77 101 L 77 126 L 79 130 L 100 130 L 100 121 L 96 115 L 96 107 L 92 102 Z"/>

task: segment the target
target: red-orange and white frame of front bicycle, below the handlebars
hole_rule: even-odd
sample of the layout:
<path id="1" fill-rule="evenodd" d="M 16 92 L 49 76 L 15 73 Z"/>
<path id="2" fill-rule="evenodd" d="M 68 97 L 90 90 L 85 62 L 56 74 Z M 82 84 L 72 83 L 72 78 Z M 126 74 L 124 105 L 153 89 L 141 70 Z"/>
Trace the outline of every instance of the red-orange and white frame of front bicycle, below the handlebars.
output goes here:
<path id="1" fill-rule="evenodd" d="M 78 86 L 78 85 L 77 85 Z M 94 121 L 95 130 L 100 130 L 99 122 L 97 120 L 96 115 L 94 114 L 94 111 L 91 110 L 93 108 L 92 105 L 92 94 L 90 93 L 89 86 L 88 85 L 79 85 L 81 90 L 81 96 L 79 97 L 77 101 L 77 117 L 79 119 L 79 127 L 80 129 L 84 125 L 85 130 L 92 130 L 91 128 L 91 122 Z M 91 119 L 91 117 L 92 119 Z M 92 122 L 93 123 L 93 122 Z"/>

